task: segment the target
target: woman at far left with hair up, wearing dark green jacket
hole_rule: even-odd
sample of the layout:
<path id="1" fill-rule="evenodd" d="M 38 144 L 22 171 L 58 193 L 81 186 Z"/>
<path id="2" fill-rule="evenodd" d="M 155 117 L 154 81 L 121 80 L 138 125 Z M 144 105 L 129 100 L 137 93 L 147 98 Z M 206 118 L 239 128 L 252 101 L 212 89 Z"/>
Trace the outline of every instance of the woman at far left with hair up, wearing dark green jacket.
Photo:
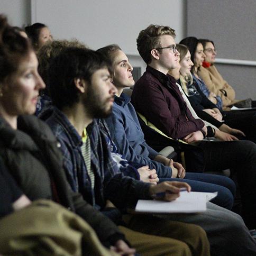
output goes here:
<path id="1" fill-rule="evenodd" d="M 0 156 L 19 187 L 32 201 L 52 199 L 77 213 L 109 248 L 134 253 L 117 226 L 71 190 L 56 138 L 32 115 L 39 90 L 45 87 L 35 52 L 2 15 L 0 57 Z"/>

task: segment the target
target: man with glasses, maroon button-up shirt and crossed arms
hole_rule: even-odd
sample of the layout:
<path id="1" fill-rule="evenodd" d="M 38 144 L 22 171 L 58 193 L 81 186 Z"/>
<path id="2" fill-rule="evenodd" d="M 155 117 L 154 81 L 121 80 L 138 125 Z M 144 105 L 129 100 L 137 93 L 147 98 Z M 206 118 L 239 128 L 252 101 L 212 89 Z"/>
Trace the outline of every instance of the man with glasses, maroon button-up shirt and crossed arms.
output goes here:
<path id="1" fill-rule="evenodd" d="M 175 31 L 168 26 L 150 25 L 137 39 L 147 70 L 132 94 L 136 111 L 144 115 L 167 136 L 197 143 L 204 151 L 205 170 L 231 169 L 241 188 L 243 218 L 249 228 L 256 227 L 256 145 L 251 141 L 203 141 L 212 129 L 195 119 L 182 98 L 176 80 L 167 75 L 178 65 Z M 211 135 L 210 135 L 211 136 Z"/>

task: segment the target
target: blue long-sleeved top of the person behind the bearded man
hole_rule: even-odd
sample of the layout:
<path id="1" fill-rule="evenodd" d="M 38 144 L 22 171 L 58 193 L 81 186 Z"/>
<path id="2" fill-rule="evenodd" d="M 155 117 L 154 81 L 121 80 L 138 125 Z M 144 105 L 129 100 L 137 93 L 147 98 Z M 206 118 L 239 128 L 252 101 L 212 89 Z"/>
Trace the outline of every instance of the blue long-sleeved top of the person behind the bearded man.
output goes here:
<path id="1" fill-rule="evenodd" d="M 171 177 L 171 168 L 162 163 L 151 160 L 159 153 L 145 142 L 135 109 L 130 102 L 131 98 L 124 93 L 115 96 L 112 114 L 106 118 L 111 137 L 116 144 L 118 153 L 130 162 L 141 166 L 156 169 L 161 178 Z"/>

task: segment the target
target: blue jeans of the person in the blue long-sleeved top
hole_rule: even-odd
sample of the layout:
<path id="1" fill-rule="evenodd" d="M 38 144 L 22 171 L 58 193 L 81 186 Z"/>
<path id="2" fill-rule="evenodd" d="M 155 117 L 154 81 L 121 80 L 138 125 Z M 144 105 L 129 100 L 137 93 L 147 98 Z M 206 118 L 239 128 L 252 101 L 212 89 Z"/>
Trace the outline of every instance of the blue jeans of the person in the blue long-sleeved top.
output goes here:
<path id="1" fill-rule="evenodd" d="M 236 187 L 234 181 L 230 178 L 208 173 L 186 172 L 184 179 L 160 178 L 159 182 L 172 180 L 187 182 L 191 186 L 191 191 L 217 191 L 218 195 L 211 202 L 226 209 L 232 209 L 233 207 Z"/>

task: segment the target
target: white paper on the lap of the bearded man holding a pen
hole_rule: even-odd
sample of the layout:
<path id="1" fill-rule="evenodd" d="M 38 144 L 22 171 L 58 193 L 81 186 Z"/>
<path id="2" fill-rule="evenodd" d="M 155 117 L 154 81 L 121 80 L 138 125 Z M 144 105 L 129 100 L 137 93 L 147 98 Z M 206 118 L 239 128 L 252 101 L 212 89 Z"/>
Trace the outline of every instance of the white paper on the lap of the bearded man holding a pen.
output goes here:
<path id="1" fill-rule="evenodd" d="M 206 202 L 217 196 L 215 193 L 182 191 L 172 202 L 160 200 L 138 200 L 135 212 L 140 213 L 198 213 L 206 211 Z"/>

